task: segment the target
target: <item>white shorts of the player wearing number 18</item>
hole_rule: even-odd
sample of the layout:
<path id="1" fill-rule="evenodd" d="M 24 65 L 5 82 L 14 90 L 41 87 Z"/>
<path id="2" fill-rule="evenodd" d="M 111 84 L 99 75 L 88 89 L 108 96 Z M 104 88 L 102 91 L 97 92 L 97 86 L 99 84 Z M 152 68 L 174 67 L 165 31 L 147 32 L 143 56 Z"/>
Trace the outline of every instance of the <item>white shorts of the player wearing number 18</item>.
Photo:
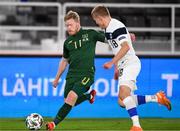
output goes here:
<path id="1" fill-rule="evenodd" d="M 121 66 L 123 68 L 121 68 Z M 120 65 L 118 67 L 119 67 L 118 87 L 121 85 L 126 85 L 131 89 L 131 91 L 136 90 L 137 89 L 136 79 L 141 70 L 140 60 L 137 59 L 129 63 L 126 62 L 124 63 L 124 65 Z"/>

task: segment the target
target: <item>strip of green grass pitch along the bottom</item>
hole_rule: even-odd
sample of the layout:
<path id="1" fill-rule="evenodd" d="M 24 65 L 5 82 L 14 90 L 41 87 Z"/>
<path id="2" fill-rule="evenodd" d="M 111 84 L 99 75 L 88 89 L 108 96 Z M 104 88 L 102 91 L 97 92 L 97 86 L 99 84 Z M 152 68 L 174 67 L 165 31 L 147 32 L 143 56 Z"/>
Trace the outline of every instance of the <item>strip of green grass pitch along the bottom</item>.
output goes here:
<path id="1" fill-rule="evenodd" d="M 50 121 L 44 118 L 44 123 Z M 0 131 L 25 131 L 25 120 L 22 118 L 1 118 Z M 172 118 L 141 118 L 144 131 L 180 131 L 180 119 Z M 55 131 L 127 131 L 131 121 L 127 118 L 117 119 L 65 119 Z M 41 130 L 45 130 L 45 124 Z"/>

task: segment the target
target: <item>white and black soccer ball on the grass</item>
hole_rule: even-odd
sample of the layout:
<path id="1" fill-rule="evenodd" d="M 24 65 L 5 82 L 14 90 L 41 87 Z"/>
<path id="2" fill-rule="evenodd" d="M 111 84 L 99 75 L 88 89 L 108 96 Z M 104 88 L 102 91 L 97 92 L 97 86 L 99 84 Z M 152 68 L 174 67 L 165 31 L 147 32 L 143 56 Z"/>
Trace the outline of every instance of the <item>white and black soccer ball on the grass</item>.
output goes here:
<path id="1" fill-rule="evenodd" d="M 26 127 L 29 130 L 39 130 L 43 124 L 43 117 L 38 113 L 32 113 L 26 118 Z"/>

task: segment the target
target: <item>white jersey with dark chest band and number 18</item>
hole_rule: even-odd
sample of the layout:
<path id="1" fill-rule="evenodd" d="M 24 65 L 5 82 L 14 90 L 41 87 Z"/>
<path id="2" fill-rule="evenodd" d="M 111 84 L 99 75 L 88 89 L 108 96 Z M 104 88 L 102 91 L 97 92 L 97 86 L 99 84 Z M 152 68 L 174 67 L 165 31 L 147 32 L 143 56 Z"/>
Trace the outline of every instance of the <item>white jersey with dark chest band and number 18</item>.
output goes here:
<path id="1" fill-rule="evenodd" d="M 132 47 L 131 37 L 129 35 L 128 30 L 126 29 L 125 25 L 117 19 L 111 19 L 108 27 L 105 30 L 105 36 L 112 48 L 113 54 L 116 55 L 119 50 L 121 49 L 121 44 L 124 41 L 127 41 L 130 50 L 126 53 L 126 55 L 120 59 L 118 65 L 124 61 L 134 61 L 137 60 L 137 56 L 135 55 L 134 48 Z M 128 62 L 129 63 L 129 62 Z"/>

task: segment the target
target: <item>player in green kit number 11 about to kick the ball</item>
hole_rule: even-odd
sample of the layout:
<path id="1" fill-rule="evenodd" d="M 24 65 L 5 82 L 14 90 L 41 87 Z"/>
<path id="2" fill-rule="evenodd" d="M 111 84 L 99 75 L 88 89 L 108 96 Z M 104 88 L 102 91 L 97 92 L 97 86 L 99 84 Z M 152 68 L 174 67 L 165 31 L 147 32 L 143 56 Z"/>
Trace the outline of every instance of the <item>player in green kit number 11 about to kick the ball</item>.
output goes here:
<path id="1" fill-rule="evenodd" d="M 49 131 L 53 131 L 74 106 L 86 100 L 89 100 L 90 103 L 94 102 L 96 91 L 87 92 L 94 83 L 96 42 L 105 40 L 103 33 L 82 29 L 80 17 L 76 12 L 69 11 L 64 17 L 64 21 L 69 37 L 64 42 L 63 57 L 53 81 L 55 88 L 68 64 L 69 69 L 66 76 L 64 104 L 59 109 L 54 121 L 46 124 Z"/>

